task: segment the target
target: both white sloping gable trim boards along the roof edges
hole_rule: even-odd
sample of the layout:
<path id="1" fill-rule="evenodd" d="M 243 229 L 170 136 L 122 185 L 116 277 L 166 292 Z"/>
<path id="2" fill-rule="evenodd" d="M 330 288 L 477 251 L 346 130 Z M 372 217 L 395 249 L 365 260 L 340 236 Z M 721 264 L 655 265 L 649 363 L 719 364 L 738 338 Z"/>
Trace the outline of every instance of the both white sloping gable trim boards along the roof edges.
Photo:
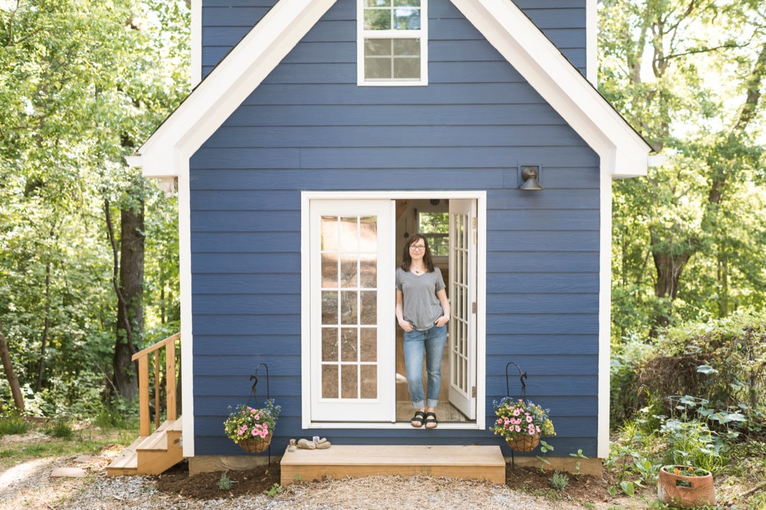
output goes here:
<path id="1" fill-rule="evenodd" d="M 143 175 L 177 176 L 188 169 L 191 155 L 335 2 L 277 2 L 142 145 L 136 163 Z M 597 152 L 603 172 L 614 178 L 647 174 L 649 145 L 513 2 L 451 2 Z M 592 0 L 588 8 L 594 11 Z"/>

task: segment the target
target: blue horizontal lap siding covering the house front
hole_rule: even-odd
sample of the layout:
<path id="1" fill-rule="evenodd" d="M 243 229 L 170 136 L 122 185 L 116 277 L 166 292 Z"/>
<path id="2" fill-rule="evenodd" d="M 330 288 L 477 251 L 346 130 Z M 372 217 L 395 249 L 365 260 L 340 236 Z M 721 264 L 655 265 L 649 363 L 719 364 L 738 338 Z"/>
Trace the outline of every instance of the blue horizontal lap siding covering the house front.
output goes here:
<path id="1" fill-rule="evenodd" d="M 584 2 L 517 3 L 584 70 Z M 205 0 L 203 75 L 272 4 Z M 222 423 L 260 362 L 283 407 L 274 444 L 313 435 L 300 428 L 300 192 L 416 189 L 487 194 L 487 422 L 515 361 L 527 396 L 552 410 L 556 456 L 594 456 L 597 155 L 447 0 L 429 2 L 427 87 L 358 87 L 355 9 L 338 0 L 191 159 L 195 455 L 241 453 Z M 545 191 L 516 189 L 526 163 L 542 165 Z M 518 377 L 510 385 L 518 394 Z M 422 430 L 319 433 L 424 441 Z M 446 428 L 429 440 L 499 443 Z"/>

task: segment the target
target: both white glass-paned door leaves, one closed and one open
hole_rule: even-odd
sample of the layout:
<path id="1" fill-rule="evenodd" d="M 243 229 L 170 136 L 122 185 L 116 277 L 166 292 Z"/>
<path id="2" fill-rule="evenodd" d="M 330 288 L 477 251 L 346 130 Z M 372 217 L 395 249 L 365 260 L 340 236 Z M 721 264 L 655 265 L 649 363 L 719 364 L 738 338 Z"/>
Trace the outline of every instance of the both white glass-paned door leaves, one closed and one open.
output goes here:
<path id="1" fill-rule="evenodd" d="M 312 422 L 394 422 L 395 201 L 309 201 Z M 450 200 L 450 403 L 476 417 L 476 201 Z M 306 355 L 306 352 L 304 352 Z M 305 387 L 305 386 L 304 386 Z"/>

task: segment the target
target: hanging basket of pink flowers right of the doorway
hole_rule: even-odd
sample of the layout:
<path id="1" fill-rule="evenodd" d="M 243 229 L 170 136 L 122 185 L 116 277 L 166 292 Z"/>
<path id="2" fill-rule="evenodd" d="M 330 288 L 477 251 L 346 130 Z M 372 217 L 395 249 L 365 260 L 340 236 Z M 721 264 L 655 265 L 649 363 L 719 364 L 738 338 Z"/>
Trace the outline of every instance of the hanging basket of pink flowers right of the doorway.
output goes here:
<path id="1" fill-rule="evenodd" d="M 504 397 L 499 403 L 493 401 L 492 404 L 497 419 L 489 430 L 503 436 L 512 450 L 530 452 L 535 450 L 540 436 L 556 435 L 548 409 L 529 400 L 513 400 L 511 397 Z"/>

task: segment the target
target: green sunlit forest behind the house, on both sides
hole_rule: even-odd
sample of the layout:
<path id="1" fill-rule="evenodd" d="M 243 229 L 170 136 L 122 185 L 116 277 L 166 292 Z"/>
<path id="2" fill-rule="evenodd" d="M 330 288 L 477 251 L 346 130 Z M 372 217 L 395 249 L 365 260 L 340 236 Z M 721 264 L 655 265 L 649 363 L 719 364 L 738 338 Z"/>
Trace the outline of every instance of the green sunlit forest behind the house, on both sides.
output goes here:
<path id="1" fill-rule="evenodd" d="M 614 182 L 617 359 L 764 307 L 766 6 L 598 5 L 598 88 L 666 157 Z M 190 91 L 189 21 L 182 0 L 0 0 L 0 414 L 134 410 L 130 356 L 180 329 L 176 199 L 125 157 Z"/>

